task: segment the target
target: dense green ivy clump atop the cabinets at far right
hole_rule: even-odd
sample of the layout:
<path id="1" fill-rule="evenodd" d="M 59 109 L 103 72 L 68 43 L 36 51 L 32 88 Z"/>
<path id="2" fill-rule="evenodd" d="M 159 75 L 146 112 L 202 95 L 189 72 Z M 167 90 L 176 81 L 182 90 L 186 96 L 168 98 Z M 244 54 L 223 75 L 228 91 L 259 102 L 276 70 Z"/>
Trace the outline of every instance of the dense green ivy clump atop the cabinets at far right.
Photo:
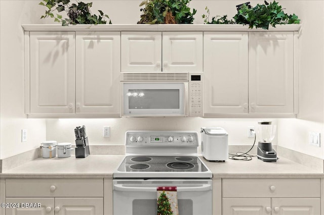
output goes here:
<path id="1" fill-rule="evenodd" d="M 275 27 L 277 24 L 300 23 L 298 16 L 288 15 L 282 10 L 282 7 L 275 1 L 270 4 L 264 1 L 263 5 L 257 4 L 254 8 L 242 4 L 233 18 L 236 24 L 249 25 L 249 28 L 269 29 L 269 25 Z"/>

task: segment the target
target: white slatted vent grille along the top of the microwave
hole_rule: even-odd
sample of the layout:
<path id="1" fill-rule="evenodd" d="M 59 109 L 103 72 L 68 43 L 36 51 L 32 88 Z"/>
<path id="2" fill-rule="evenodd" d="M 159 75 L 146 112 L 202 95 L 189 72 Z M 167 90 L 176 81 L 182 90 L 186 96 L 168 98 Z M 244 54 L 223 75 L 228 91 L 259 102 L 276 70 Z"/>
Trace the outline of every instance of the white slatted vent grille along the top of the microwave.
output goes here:
<path id="1" fill-rule="evenodd" d="M 188 73 L 123 73 L 121 81 L 188 81 Z"/>

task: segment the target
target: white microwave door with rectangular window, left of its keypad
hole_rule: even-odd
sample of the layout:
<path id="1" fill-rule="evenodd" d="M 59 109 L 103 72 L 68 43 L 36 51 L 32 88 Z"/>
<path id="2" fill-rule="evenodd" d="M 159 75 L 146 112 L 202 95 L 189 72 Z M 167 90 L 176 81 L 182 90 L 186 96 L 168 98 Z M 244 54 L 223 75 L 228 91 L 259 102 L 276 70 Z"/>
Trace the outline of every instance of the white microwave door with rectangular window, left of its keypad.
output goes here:
<path id="1" fill-rule="evenodd" d="M 188 116 L 188 82 L 121 84 L 121 116 Z"/>

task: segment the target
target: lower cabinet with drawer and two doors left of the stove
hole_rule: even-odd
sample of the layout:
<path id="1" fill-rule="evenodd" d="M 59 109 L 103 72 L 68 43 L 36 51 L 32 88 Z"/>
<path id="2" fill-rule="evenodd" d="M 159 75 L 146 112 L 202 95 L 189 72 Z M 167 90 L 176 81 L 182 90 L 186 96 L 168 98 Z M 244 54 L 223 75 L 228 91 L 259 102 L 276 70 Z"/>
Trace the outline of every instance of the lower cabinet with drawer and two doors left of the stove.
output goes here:
<path id="1" fill-rule="evenodd" d="M 103 188 L 103 179 L 6 179 L 6 203 L 19 205 L 6 215 L 103 215 Z"/>

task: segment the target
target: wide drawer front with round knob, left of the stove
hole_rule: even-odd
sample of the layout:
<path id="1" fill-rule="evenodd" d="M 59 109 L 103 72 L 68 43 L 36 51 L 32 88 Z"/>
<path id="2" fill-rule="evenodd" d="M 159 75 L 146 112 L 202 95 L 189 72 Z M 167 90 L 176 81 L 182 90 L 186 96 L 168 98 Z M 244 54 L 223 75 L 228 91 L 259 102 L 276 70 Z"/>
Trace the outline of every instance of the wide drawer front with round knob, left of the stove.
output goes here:
<path id="1" fill-rule="evenodd" d="M 6 179 L 7 197 L 103 197 L 103 179 Z"/>

